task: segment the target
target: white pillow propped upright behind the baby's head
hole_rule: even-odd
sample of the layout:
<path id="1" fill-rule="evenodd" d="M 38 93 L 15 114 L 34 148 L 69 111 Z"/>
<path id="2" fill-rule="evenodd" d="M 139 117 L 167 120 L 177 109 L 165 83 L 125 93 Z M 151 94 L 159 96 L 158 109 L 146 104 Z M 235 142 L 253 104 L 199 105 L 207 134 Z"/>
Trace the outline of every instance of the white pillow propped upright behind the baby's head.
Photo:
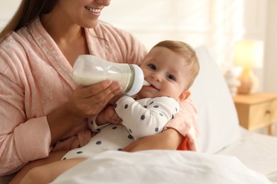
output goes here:
<path id="1" fill-rule="evenodd" d="M 216 153 L 239 138 L 239 120 L 229 88 L 210 50 L 195 48 L 200 73 L 192 85 L 192 100 L 198 110 L 199 151 Z"/>

